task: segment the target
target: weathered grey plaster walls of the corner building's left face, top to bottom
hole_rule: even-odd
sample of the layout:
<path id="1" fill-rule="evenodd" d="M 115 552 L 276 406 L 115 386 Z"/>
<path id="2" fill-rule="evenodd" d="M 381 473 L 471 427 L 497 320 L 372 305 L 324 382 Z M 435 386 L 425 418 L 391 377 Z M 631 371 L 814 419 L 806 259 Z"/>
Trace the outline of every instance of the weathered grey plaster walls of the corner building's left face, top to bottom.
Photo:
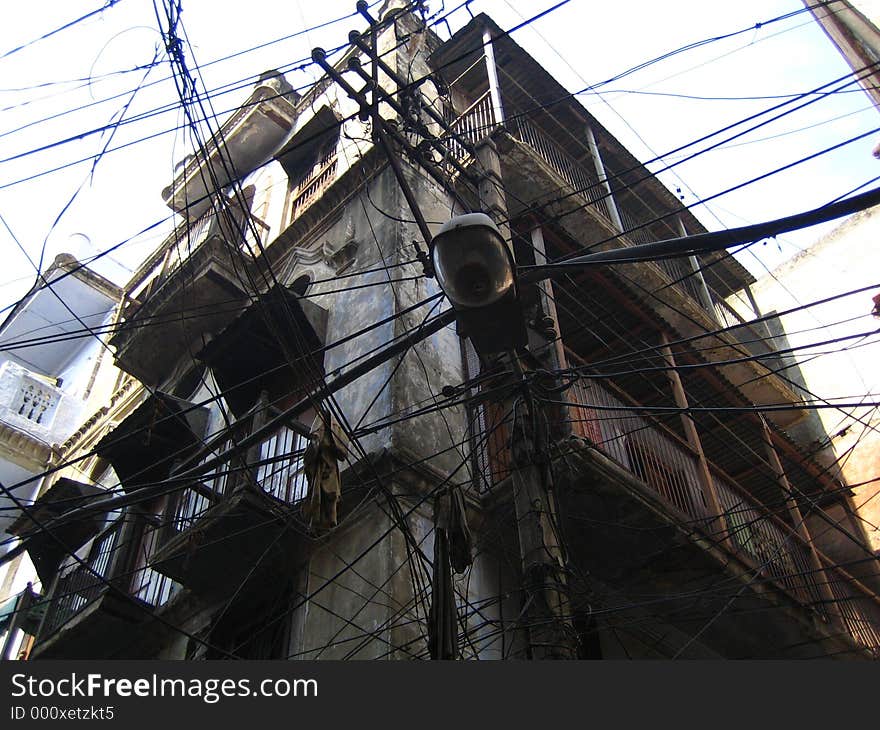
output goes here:
<path id="1" fill-rule="evenodd" d="M 397 43 L 393 30 L 383 39 L 386 45 L 388 42 Z M 394 63 L 404 75 L 423 73 L 426 70 L 423 56 L 427 50 L 423 39 L 415 35 L 407 45 L 405 52 L 421 54 L 420 60 L 410 64 L 409 57 L 402 55 L 403 60 L 397 59 Z M 337 89 L 312 99 L 309 107 L 314 111 L 325 103 L 333 105 L 341 116 L 356 110 L 356 105 Z M 390 109 L 383 112 L 394 115 Z M 297 120 L 297 129 L 302 129 L 309 118 L 304 110 Z M 350 170 L 371 146 L 363 138 L 368 131 L 359 122 L 343 126 L 337 152 L 337 177 Z M 453 214 L 448 195 L 411 169 L 408 162 L 404 164 L 424 215 L 432 230 L 438 229 Z M 351 174 L 360 173 L 353 170 Z M 289 205 L 288 189 L 294 182 L 287 179 L 279 164 L 272 163 L 242 183 L 243 186 L 254 185 L 256 189 L 252 212 L 270 225 L 268 240 L 273 240 L 290 223 L 289 211 L 285 208 Z M 400 187 L 386 169 L 374 179 L 364 179 L 361 189 L 355 190 L 342 208 L 316 223 L 273 266 L 273 275 L 281 284 L 290 286 L 302 276 L 308 276 L 313 282 L 306 296 L 327 312 L 326 343 L 331 345 L 324 354 L 327 378 L 344 372 L 360 358 L 442 311 L 440 305 L 428 305 L 393 318 L 438 291 L 434 280 L 421 276 L 420 264 L 404 263 L 415 258 L 413 241 L 418 241 L 420 248 L 426 245 L 418 228 L 409 222 L 411 219 L 412 213 Z M 248 286 L 249 290 L 252 288 Z M 390 321 L 372 327 L 384 319 Z M 332 346 L 367 327 L 371 329 L 364 334 Z M 190 352 L 179 354 L 177 364 L 169 371 L 165 389 L 174 389 L 185 376 L 193 364 L 192 355 Z M 87 451 L 106 432 L 105 426 L 109 427 L 111 419 L 118 422 L 141 402 L 142 395 L 135 396 L 139 392 L 135 384 L 129 395 L 117 398 L 114 408 L 107 408 L 120 384 L 120 375 L 109 357 L 102 356 L 99 365 L 90 399 L 97 417 L 92 430 L 84 432 L 86 435 L 79 438 L 68 456 Z M 454 327 L 450 327 L 418 343 L 399 361 L 391 360 L 359 378 L 340 390 L 334 400 L 347 425 L 357 430 L 406 415 L 415 408 L 431 406 L 444 385 L 458 385 L 462 379 L 460 343 Z M 217 384 L 208 372 L 193 393 L 179 392 L 178 395 L 199 403 L 213 398 L 217 392 Z M 226 423 L 221 405 L 213 404 L 210 410 L 207 434 L 219 431 Z M 298 595 L 294 596 L 291 607 L 310 596 L 288 618 L 288 653 L 292 658 L 426 656 L 434 518 L 432 500 L 422 501 L 422 498 L 437 481 L 452 472 L 456 481 L 467 478 L 467 468 L 460 468 L 466 458 L 466 451 L 459 445 L 467 436 L 464 418 L 463 409 L 444 409 L 358 439 L 354 458 L 387 450 L 396 457 L 394 463 L 421 460 L 430 469 L 423 471 L 419 479 L 408 474 L 401 482 L 391 478 L 382 480 L 362 504 L 347 504 L 351 512 L 332 534 L 319 540 L 306 567 L 299 570 L 292 556 L 291 575 L 279 576 L 279 580 L 297 582 Z M 94 460 L 85 464 L 91 467 Z M 83 477 L 81 473 L 78 476 Z M 409 537 L 393 526 L 390 508 L 385 502 L 386 490 L 398 495 L 404 511 L 413 510 L 407 518 Z M 79 554 L 85 555 L 88 547 L 83 546 Z M 297 571 L 299 574 L 294 575 Z M 324 583 L 327 585 L 321 588 Z M 514 605 L 516 599 L 511 598 L 515 594 L 515 576 L 509 566 L 505 567 L 491 547 L 480 547 L 473 568 L 457 578 L 456 584 L 462 595 L 460 613 L 472 630 L 472 641 L 463 651 L 480 658 L 500 657 L 502 647 L 512 646 L 519 610 Z M 506 598 L 499 599 L 499 591 Z M 316 593 L 311 596 L 313 592 Z M 169 607 L 172 611 L 183 611 L 176 606 Z M 205 609 L 197 602 L 189 608 L 190 615 L 183 612 L 173 616 L 192 633 L 207 625 L 206 616 L 217 610 L 217 607 Z M 501 621 L 503 612 L 509 614 L 506 625 Z M 502 625 L 510 635 L 500 631 Z M 182 658 L 186 656 L 187 646 L 192 646 L 181 635 L 159 643 L 158 656 L 163 658 Z"/>

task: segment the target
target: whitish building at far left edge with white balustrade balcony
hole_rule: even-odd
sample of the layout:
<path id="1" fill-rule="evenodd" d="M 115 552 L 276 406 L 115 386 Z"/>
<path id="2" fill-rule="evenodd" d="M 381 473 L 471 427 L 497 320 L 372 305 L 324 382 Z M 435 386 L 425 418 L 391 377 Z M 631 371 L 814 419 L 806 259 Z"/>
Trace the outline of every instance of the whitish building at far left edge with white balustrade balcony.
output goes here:
<path id="1" fill-rule="evenodd" d="M 0 326 L 0 484 L 9 490 L 0 496 L 0 555 L 22 527 L 19 506 L 49 487 L 41 476 L 58 463 L 60 445 L 79 426 L 95 388 L 104 348 L 83 330 L 101 332 L 121 293 L 61 254 Z M 35 567 L 27 554 L 10 561 L 0 568 L 0 604 L 11 609 L 28 584 L 39 590 L 55 567 Z M 0 618 L 4 658 L 15 655 L 21 639 L 4 635 L 10 618 Z"/>

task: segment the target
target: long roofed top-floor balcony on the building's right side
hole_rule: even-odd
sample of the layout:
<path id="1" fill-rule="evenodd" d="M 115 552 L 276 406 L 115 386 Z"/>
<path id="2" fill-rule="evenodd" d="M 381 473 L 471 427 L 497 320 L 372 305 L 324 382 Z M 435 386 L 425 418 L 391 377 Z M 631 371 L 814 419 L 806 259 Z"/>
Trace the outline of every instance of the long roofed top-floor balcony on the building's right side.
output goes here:
<path id="1" fill-rule="evenodd" d="M 499 66 L 505 115 L 500 124 L 485 72 L 474 71 L 481 63 L 474 48 L 482 48 L 481 42 L 471 45 L 479 38 L 473 35 L 475 29 L 463 31 L 436 59 L 454 87 L 453 98 L 464 107 L 450 122 L 453 134 L 446 143 L 449 157 L 467 165 L 473 163 L 469 148 L 493 136 L 514 234 L 525 238 L 523 246 L 517 245 L 517 255 L 522 253 L 525 263 L 530 263 L 528 233 L 541 218 L 551 221 L 541 226 L 550 260 L 676 238 L 685 226 L 691 233 L 702 230 L 675 196 L 533 59 L 503 37 L 497 40 L 496 55 L 507 58 L 510 68 Z M 454 172 L 448 161 L 446 171 Z M 462 193 L 468 194 L 467 186 L 462 186 Z M 705 270 L 697 271 L 699 265 L 705 265 Z M 744 350 L 762 357 L 768 352 L 762 344 L 766 333 L 756 332 L 725 302 L 753 280 L 735 259 L 708 254 L 699 261 L 688 257 L 620 264 L 614 272 L 616 276 L 610 278 L 621 294 L 619 300 L 626 300 L 622 304 L 636 305 L 654 319 L 665 320 L 678 337 L 705 338 L 701 346 L 711 353 L 707 358 L 730 361 L 719 371 L 748 401 L 757 405 L 800 402 L 784 377 L 768 377 L 756 362 L 737 361 Z M 554 282 L 554 297 L 569 283 L 575 290 L 589 286 L 584 284 L 587 280 L 588 272 L 579 272 Z M 583 310 L 579 296 L 579 291 L 571 293 L 576 311 Z M 560 311 L 560 319 L 565 316 Z M 719 325 L 725 331 L 718 332 Z M 772 364 L 772 360 L 767 362 Z M 777 410 L 768 418 L 788 428 L 805 415 L 798 409 Z"/>

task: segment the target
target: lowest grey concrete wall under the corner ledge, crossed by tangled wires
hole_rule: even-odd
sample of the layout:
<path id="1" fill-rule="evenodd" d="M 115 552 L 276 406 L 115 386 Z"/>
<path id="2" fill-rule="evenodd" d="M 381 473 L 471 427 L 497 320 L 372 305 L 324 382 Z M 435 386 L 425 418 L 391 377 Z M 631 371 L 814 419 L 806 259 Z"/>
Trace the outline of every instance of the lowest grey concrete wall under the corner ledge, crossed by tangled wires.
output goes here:
<path id="1" fill-rule="evenodd" d="M 387 506 L 374 503 L 312 556 L 292 605 L 315 595 L 292 613 L 291 658 L 427 658 L 432 509 L 408 498 L 399 504 L 409 540 L 393 526 Z M 455 576 L 466 658 L 500 659 L 521 646 L 515 576 L 495 547 L 478 542 L 473 566 Z"/>

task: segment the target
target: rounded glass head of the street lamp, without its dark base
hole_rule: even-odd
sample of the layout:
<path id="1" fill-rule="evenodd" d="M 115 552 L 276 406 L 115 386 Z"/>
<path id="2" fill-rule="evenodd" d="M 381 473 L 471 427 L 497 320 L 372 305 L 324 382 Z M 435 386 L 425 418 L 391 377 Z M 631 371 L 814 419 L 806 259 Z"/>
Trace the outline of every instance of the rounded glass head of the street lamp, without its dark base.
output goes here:
<path id="1" fill-rule="evenodd" d="M 510 251 L 485 213 L 452 218 L 432 243 L 437 282 L 454 307 L 485 307 L 513 288 Z"/>

